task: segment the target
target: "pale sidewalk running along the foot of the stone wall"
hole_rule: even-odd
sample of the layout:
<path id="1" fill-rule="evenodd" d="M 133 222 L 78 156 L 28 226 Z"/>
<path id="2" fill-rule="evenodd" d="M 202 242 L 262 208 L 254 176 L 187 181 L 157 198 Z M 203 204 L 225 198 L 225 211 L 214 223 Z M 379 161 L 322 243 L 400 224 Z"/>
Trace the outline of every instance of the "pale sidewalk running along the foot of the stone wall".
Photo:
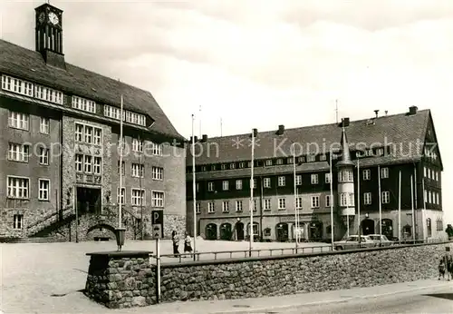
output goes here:
<path id="1" fill-rule="evenodd" d="M 452 281 L 446 280 L 417 280 L 395 283 L 390 285 L 343 289 L 335 291 L 302 293 L 290 296 L 264 297 L 255 299 L 226 299 L 207 301 L 188 301 L 161 303 L 145 308 L 119 309 L 121 313 L 167 313 L 167 314 L 231 314 L 265 312 L 270 309 L 291 309 L 300 306 L 344 302 L 351 299 L 369 299 L 391 294 L 405 293 L 419 289 L 452 286 Z M 116 311 L 116 310 L 115 310 Z"/>

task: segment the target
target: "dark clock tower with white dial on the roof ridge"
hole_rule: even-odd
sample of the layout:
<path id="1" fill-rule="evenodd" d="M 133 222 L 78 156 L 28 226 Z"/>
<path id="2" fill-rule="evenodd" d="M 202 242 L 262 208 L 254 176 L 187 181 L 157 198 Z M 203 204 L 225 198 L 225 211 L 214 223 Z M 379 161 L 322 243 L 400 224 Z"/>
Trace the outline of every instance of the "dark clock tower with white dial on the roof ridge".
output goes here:
<path id="1" fill-rule="evenodd" d="M 65 68 L 63 54 L 63 11 L 44 4 L 34 9 L 36 13 L 36 51 L 43 55 L 46 64 Z"/>

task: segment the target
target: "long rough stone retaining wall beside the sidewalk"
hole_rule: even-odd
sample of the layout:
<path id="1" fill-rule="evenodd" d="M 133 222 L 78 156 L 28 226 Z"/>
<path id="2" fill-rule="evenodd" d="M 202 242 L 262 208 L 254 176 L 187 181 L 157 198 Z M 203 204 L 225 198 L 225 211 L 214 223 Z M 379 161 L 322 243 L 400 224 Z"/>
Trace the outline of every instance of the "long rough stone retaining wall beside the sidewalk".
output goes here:
<path id="1" fill-rule="evenodd" d="M 447 246 L 453 242 L 162 264 L 160 300 L 258 298 L 436 278 Z M 146 269 L 156 279 L 156 270 Z M 146 304 L 154 304 L 156 289 L 148 292 Z M 132 306 L 124 302 L 117 307 Z"/>

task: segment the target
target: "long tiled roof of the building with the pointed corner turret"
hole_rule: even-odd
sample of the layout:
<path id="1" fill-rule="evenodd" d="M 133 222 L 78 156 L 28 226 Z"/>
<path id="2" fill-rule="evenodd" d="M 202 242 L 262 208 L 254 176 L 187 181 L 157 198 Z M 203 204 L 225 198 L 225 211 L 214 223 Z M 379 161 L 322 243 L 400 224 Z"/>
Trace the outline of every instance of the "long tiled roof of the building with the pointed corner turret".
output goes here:
<path id="1" fill-rule="evenodd" d="M 372 162 L 413 162 L 420 158 L 427 125 L 431 119 L 429 110 L 416 114 L 400 113 L 381 116 L 370 123 L 369 119 L 352 121 L 346 127 L 351 152 L 393 144 L 392 155 L 371 158 Z M 371 119 L 373 120 L 373 119 Z M 275 131 L 258 132 L 255 139 L 255 159 L 292 156 L 292 145 L 296 142 L 296 155 L 329 152 L 329 147 L 339 150 L 342 128 L 338 124 L 313 125 L 284 130 L 283 135 Z M 251 159 L 250 133 L 208 139 L 196 145 L 196 163 L 248 161 Z M 371 161 L 372 160 L 372 161 Z M 187 165 L 192 164 L 188 150 Z M 209 172 L 213 173 L 213 172 Z"/>

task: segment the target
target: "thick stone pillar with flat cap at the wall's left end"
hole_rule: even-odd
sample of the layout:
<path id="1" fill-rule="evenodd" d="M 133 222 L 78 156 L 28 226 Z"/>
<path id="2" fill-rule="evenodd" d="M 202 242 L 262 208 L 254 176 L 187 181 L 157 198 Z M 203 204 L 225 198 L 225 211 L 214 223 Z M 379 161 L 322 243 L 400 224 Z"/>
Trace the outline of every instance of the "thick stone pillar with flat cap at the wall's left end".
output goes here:
<path id="1" fill-rule="evenodd" d="M 90 267 L 85 295 L 110 309 L 143 307 L 157 302 L 156 270 L 150 251 L 87 253 Z"/>

